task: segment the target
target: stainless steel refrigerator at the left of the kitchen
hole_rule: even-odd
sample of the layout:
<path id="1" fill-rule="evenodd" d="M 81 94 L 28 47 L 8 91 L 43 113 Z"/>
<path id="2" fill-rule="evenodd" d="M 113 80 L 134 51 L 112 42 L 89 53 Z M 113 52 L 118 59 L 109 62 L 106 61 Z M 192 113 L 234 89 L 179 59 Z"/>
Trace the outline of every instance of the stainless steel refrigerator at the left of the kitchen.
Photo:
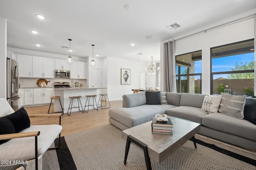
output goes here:
<path id="1" fill-rule="evenodd" d="M 7 101 L 11 106 L 13 101 L 20 99 L 18 94 L 19 79 L 18 62 L 7 58 Z"/>

